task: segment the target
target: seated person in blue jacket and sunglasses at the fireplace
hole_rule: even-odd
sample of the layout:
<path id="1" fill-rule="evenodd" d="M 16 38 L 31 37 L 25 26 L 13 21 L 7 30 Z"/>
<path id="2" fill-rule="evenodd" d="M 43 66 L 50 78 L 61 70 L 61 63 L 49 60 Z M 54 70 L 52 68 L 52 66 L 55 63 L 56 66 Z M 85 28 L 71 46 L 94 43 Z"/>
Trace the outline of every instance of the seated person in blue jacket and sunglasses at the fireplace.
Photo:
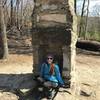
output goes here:
<path id="1" fill-rule="evenodd" d="M 54 64 L 53 60 L 53 55 L 47 55 L 46 62 L 41 65 L 40 77 L 38 77 L 38 80 L 44 82 L 43 85 L 48 88 L 48 97 L 52 96 L 51 91 L 53 88 L 56 88 L 58 85 L 64 85 L 59 71 L 59 66 Z"/>

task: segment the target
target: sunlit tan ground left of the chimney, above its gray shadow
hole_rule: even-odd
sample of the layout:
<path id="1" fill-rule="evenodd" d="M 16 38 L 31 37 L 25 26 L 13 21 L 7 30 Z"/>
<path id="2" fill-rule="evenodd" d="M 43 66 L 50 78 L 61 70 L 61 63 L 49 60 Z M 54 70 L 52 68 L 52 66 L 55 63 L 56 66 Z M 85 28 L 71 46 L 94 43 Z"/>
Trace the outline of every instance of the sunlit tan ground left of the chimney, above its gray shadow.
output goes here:
<path id="1" fill-rule="evenodd" d="M 0 73 L 32 73 L 32 56 L 10 54 L 9 59 L 0 61 Z"/>

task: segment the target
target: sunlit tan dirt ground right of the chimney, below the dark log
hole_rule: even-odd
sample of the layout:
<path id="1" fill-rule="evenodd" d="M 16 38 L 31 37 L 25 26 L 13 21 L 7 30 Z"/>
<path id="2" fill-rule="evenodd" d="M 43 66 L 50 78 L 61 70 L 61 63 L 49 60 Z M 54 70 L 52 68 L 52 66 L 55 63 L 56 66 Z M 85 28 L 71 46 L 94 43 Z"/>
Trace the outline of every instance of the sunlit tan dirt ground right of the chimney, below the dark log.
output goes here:
<path id="1" fill-rule="evenodd" d="M 100 56 L 79 54 L 76 62 L 80 86 L 91 92 L 90 98 L 80 100 L 100 100 Z"/>

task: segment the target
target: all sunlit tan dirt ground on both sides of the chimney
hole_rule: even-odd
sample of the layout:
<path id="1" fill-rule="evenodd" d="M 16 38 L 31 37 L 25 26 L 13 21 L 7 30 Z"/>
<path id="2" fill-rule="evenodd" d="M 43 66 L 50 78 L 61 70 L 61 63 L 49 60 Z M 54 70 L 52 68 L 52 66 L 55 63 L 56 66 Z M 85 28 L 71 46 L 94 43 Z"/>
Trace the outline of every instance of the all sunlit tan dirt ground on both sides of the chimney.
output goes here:
<path id="1" fill-rule="evenodd" d="M 78 100 L 100 100 L 100 56 L 79 53 L 76 57 L 76 66 L 80 88 L 86 92 L 85 96 L 83 93 Z M 10 54 L 7 61 L 0 61 L 0 74 L 21 73 L 32 73 L 32 55 Z M 72 97 L 67 92 L 59 92 L 55 100 L 73 100 Z M 0 100 L 18 100 L 18 96 L 1 90 Z"/>

